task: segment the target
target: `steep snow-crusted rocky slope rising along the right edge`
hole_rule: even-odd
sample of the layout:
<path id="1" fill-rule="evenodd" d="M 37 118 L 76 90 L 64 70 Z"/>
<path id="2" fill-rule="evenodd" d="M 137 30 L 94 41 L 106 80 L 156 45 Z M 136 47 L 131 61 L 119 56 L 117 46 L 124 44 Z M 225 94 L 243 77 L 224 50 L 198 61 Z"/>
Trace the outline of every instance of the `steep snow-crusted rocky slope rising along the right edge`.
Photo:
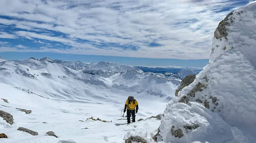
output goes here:
<path id="1" fill-rule="evenodd" d="M 209 64 L 169 102 L 158 141 L 256 143 L 255 22 L 256 3 L 220 22 Z"/>

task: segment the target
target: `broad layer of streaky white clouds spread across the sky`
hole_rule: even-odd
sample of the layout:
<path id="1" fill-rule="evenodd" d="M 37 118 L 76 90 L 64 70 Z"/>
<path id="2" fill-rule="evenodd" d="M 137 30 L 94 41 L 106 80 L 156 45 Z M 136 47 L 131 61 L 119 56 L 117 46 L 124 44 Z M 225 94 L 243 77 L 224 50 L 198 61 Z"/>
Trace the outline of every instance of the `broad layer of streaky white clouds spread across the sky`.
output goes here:
<path id="1" fill-rule="evenodd" d="M 208 59 L 213 32 L 239 0 L 1 0 L 3 25 L 17 36 L 72 46 L 59 53 L 172 59 Z M 240 0 L 242 1 L 242 0 Z M 248 1 L 249 2 L 249 1 Z M 239 6 L 239 5 L 236 5 Z M 40 33 L 38 33 L 40 32 Z M 42 33 L 44 32 L 44 33 Z M 58 36 L 54 34 L 57 33 Z M 17 36 L 4 32 L 1 37 Z M 67 38 L 68 37 L 68 38 Z M 90 42 L 85 42 L 83 39 Z M 44 42 L 38 43 L 44 44 Z M 161 47 L 150 47 L 156 42 Z M 128 48 L 117 48 L 113 44 Z M 97 48 L 96 45 L 102 45 Z M 129 50 L 137 47 L 137 51 Z M 38 49 L 39 50 L 39 49 Z"/>

